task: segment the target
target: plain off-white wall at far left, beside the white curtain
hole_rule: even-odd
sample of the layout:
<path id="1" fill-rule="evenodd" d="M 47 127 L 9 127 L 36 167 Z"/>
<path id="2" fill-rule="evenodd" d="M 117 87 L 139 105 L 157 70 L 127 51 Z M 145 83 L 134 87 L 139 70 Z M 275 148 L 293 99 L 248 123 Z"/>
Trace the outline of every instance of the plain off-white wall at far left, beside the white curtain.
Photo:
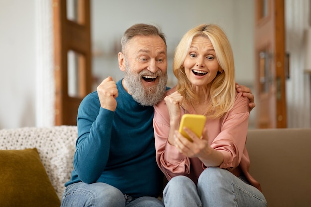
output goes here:
<path id="1" fill-rule="evenodd" d="M 0 0 L 0 129 L 35 125 L 35 0 Z"/>

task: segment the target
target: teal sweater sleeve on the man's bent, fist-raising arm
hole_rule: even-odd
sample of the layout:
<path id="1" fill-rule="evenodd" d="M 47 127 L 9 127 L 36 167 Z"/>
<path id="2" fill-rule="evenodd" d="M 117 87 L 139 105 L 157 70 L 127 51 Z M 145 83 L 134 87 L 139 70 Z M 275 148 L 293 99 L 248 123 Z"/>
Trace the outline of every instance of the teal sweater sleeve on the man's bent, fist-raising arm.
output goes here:
<path id="1" fill-rule="evenodd" d="M 86 96 L 77 116 L 78 138 L 73 165 L 79 179 L 85 183 L 98 180 L 106 167 L 113 111 L 101 108 L 97 93 Z"/>

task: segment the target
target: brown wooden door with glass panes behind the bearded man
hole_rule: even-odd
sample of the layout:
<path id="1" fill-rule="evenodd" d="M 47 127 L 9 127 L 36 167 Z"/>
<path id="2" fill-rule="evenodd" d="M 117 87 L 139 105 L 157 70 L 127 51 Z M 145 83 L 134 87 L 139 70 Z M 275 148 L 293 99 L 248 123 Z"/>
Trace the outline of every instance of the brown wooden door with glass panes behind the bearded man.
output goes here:
<path id="1" fill-rule="evenodd" d="M 90 0 L 53 0 L 55 125 L 77 125 L 91 92 Z"/>

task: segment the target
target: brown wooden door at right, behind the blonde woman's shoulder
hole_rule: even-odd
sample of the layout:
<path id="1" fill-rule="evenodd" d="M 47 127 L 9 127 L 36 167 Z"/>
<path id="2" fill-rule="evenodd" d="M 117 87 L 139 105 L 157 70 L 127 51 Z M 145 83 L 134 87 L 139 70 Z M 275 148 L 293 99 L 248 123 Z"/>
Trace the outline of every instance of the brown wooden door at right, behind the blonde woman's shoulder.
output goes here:
<path id="1" fill-rule="evenodd" d="M 286 128 L 284 0 L 255 1 L 256 127 Z"/>

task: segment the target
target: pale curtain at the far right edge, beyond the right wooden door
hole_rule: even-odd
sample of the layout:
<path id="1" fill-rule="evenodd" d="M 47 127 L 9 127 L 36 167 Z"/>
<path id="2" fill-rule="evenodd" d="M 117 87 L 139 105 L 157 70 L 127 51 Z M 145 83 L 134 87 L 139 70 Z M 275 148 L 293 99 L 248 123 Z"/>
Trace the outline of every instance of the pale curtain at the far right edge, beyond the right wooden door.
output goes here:
<path id="1" fill-rule="evenodd" d="M 311 127 L 311 74 L 304 72 L 304 31 L 308 28 L 310 0 L 285 0 L 286 50 L 290 78 L 286 83 L 288 128 Z"/>

